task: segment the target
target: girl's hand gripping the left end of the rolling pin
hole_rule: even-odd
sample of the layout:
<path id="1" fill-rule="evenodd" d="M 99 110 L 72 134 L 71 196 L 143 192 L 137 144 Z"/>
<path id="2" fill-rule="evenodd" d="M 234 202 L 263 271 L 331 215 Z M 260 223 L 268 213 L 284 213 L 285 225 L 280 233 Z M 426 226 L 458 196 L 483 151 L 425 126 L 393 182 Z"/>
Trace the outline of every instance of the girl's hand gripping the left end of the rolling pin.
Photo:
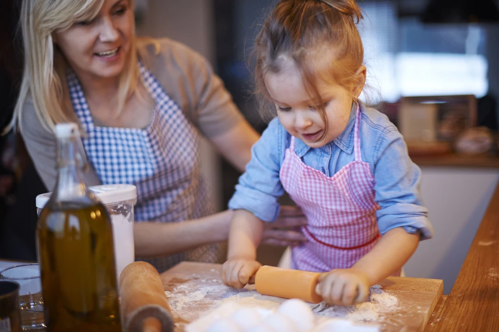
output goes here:
<path id="1" fill-rule="evenodd" d="M 234 257 L 222 266 L 222 281 L 236 289 L 245 287 L 250 278 L 258 271 L 261 264 L 254 259 Z"/>

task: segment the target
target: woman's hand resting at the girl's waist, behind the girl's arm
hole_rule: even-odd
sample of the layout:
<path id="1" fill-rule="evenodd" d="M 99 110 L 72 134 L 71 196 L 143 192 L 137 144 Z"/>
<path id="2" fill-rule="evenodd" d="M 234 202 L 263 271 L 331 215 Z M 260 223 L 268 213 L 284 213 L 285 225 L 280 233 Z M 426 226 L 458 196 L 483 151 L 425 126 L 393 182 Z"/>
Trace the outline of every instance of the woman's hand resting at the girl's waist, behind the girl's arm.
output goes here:
<path id="1" fill-rule="evenodd" d="M 297 246 L 305 242 L 301 226 L 307 224 L 307 217 L 298 206 L 281 206 L 274 222 L 265 223 L 262 244 L 273 246 Z"/>

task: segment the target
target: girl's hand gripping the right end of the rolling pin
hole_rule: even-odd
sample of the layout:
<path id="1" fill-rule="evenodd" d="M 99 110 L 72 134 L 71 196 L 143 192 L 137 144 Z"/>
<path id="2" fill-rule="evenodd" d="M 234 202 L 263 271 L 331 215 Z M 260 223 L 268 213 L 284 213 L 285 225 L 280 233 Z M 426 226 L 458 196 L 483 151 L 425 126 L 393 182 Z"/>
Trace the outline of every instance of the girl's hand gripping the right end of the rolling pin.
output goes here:
<path id="1" fill-rule="evenodd" d="M 361 270 L 337 269 L 319 276 L 316 292 L 335 306 L 363 303 L 369 296 L 369 277 Z"/>

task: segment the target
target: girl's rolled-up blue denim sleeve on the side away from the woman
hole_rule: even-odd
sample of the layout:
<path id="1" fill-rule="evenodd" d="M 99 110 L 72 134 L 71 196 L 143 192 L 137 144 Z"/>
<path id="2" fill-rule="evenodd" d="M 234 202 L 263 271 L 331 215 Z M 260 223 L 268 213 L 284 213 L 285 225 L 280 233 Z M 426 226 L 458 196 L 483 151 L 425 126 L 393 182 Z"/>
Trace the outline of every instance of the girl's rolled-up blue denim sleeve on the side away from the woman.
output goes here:
<path id="1" fill-rule="evenodd" d="M 432 238 L 433 227 L 420 193 L 421 169 L 409 158 L 402 135 L 395 129 L 382 135 L 377 151 L 374 189 L 381 207 L 376 213 L 381 234 L 404 227 L 408 233 L 419 231 L 421 240 Z"/>

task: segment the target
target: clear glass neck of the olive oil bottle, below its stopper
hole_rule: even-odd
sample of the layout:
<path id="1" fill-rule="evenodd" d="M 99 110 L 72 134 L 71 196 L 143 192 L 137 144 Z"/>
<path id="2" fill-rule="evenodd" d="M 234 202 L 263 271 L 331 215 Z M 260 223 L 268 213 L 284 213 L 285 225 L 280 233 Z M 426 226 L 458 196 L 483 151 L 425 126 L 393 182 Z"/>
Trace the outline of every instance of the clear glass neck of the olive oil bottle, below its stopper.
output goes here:
<path id="1" fill-rule="evenodd" d="M 86 196 L 84 163 L 78 141 L 77 136 L 59 138 L 57 141 L 58 176 L 54 188 L 57 201 L 75 201 Z"/>

